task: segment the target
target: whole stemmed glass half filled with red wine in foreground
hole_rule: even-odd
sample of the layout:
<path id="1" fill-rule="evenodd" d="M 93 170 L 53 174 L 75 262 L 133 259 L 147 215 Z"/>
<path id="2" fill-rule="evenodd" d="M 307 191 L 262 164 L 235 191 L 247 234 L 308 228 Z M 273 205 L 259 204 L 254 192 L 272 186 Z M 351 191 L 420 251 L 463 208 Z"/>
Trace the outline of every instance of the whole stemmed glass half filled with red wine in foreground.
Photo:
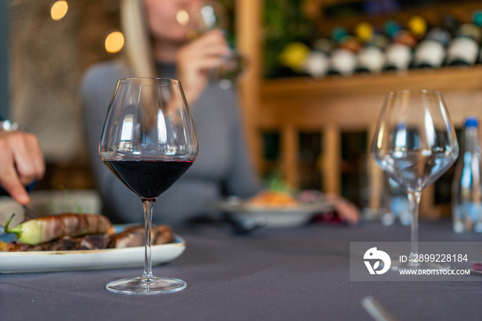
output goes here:
<path id="1" fill-rule="evenodd" d="M 151 218 L 154 203 L 193 164 L 198 141 L 179 81 L 120 79 L 105 116 L 99 155 L 125 186 L 139 196 L 145 216 L 144 273 L 110 282 L 125 294 L 169 293 L 186 282 L 157 278 L 151 271 Z"/>

